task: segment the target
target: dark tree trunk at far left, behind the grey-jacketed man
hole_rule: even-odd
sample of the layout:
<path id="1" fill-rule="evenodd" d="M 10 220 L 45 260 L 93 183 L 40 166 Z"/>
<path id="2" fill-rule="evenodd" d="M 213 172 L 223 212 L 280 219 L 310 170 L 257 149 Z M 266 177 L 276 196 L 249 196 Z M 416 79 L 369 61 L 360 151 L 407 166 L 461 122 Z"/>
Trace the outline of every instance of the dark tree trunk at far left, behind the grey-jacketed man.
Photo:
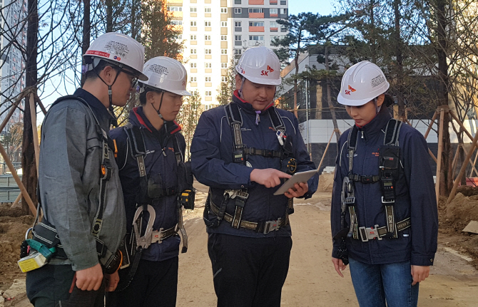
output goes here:
<path id="1" fill-rule="evenodd" d="M 37 67 L 36 56 L 38 53 L 38 28 L 39 14 L 36 0 L 28 0 L 28 30 L 26 32 L 26 88 L 33 88 L 30 95 L 36 95 Z M 35 110 L 36 111 L 36 110 Z M 36 185 L 38 177 L 36 175 L 36 160 L 34 135 L 31 125 L 31 109 L 29 96 L 25 98 L 24 108 L 24 136 L 21 147 L 21 167 L 23 176 L 21 183 L 24 184 L 26 191 L 34 204 L 38 202 L 36 199 Z M 24 214 L 30 214 L 30 209 L 26 200 L 22 197 L 21 209 Z"/>

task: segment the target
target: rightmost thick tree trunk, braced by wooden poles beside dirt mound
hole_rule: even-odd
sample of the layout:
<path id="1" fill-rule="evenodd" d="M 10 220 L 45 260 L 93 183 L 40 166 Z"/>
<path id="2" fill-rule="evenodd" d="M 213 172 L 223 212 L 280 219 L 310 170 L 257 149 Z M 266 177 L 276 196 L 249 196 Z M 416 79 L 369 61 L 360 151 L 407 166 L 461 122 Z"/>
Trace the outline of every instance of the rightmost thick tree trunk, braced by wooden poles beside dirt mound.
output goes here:
<path id="1" fill-rule="evenodd" d="M 447 1 L 437 0 L 437 41 L 438 45 L 435 47 L 438 58 L 438 78 L 439 78 L 439 105 L 448 107 L 448 63 L 447 63 L 447 32 L 449 21 L 447 20 Z M 439 194 L 442 196 L 449 195 L 452 189 L 452 145 L 449 140 L 449 116 L 445 113 L 443 120 L 443 151 L 442 151 L 442 165 L 440 173 L 440 187 Z"/>

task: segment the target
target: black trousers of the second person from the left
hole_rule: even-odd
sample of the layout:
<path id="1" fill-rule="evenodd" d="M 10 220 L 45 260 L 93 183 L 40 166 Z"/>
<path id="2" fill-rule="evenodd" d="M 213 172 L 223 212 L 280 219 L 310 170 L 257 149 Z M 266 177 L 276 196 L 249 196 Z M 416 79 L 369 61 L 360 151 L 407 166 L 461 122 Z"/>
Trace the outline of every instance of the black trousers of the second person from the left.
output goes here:
<path id="1" fill-rule="evenodd" d="M 106 306 L 174 307 L 177 292 L 177 256 L 165 261 L 141 259 L 128 288 L 106 293 Z"/>

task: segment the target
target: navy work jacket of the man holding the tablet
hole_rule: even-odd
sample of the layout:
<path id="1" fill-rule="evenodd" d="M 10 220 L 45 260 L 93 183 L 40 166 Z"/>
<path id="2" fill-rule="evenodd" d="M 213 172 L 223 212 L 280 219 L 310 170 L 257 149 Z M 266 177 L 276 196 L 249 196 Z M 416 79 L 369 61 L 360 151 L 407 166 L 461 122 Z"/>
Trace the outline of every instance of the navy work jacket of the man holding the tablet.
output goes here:
<path id="1" fill-rule="evenodd" d="M 255 124 L 256 113 L 250 103 L 238 97 L 235 91 L 233 102 L 237 103 L 243 118 L 241 127 L 243 144 L 265 150 L 280 150 L 280 143 L 268 112 L 260 113 L 260 121 Z M 277 109 L 285 124 L 285 133 L 292 139 L 293 157 L 298 162 L 298 172 L 314 170 L 315 165 L 310 161 L 298 128 L 298 120 L 293 113 Z M 225 107 L 219 106 L 205 111 L 199 119 L 191 143 L 191 165 L 193 174 L 199 182 L 212 188 L 211 200 L 216 206 L 223 201 L 225 189 L 247 188 L 249 197 L 243 209 L 243 221 L 265 222 L 285 218 L 288 198 L 282 195 L 274 196 L 278 187 L 267 188 L 261 184 L 250 181 L 250 172 L 254 168 L 273 168 L 280 170 L 280 158 L 263 157 L 261 155 L 248 155 L 247 162 L 252 166 L 240 165 L 233 162 L 233 130 L 226 119 Z M 317 189 L 318 175 L 308 182 L 309 191 L 305 198 L 309 198 Z M 230 199 L 226 209 L 228 214 L 235 212 L 234 199 Z M 209 217 L 214 217 L 213 212 Z M 221 222 L 219 227 L 208 227 L 208 233 L 232 234 L 236 236 L 264 237 L 264 236 L 290 236 L 290 226 L 281 227 L 269 234 L 262 234 L 250 229 L 235 229 L 228 222 Z"/>

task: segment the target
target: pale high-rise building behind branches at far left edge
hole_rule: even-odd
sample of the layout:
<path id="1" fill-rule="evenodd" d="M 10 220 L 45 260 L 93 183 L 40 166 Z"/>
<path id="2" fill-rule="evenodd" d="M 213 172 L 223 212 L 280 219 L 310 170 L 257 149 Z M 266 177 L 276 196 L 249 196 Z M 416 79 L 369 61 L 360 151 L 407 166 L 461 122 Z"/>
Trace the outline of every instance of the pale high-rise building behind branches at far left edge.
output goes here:
<path id="1" fill-rule="evenodd" d="M 0 122 L 16 95 L 25 87 L 25 62 L 17 47 L 26 48 L 26 29 L 21 22 L 26 18 L 25 0 L 0 0 Z M 15 44 L 11 39 L 15 39 Z M 23 109 L 23 103 L 19 108 Z M 23 121 L 23 113 L 17 108 L 1 135 L 9 131 L 10 125 Z"/>

